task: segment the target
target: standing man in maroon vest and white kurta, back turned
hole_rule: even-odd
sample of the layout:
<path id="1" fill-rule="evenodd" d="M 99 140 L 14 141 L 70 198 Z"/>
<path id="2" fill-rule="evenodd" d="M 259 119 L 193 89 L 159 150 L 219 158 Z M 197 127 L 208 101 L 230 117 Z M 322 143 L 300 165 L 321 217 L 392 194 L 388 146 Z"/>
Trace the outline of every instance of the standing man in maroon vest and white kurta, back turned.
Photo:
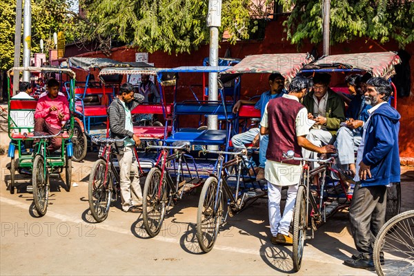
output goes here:
<path id="1" fill-rule="evenodd" d="M 293 242 L 289 235 L 289 226 L 295 206 L 297 184 L 299 184 L 302 173 L 299 161 L 283 161 L 283 152 L 293 150 L 295 157 L 302 157 L 302 148 L 319 153 L 335 152 L 332 145 L 319 147 L 306 139 L 313 121 L 308 120 L 308 110 L 299 101 L 311 86 L 312 81 L 304 77 L 295 77 L 289 85 L 287 95 L 268 102 L 260 123 L 262 126 L 260 134 L 269 135 L 264 177 L 268 181 L 272 244 L 292 244 Z M 288 198 L 283 217 L 281 217 L 280 199 L 283 186 L 288 186 Z"/>

